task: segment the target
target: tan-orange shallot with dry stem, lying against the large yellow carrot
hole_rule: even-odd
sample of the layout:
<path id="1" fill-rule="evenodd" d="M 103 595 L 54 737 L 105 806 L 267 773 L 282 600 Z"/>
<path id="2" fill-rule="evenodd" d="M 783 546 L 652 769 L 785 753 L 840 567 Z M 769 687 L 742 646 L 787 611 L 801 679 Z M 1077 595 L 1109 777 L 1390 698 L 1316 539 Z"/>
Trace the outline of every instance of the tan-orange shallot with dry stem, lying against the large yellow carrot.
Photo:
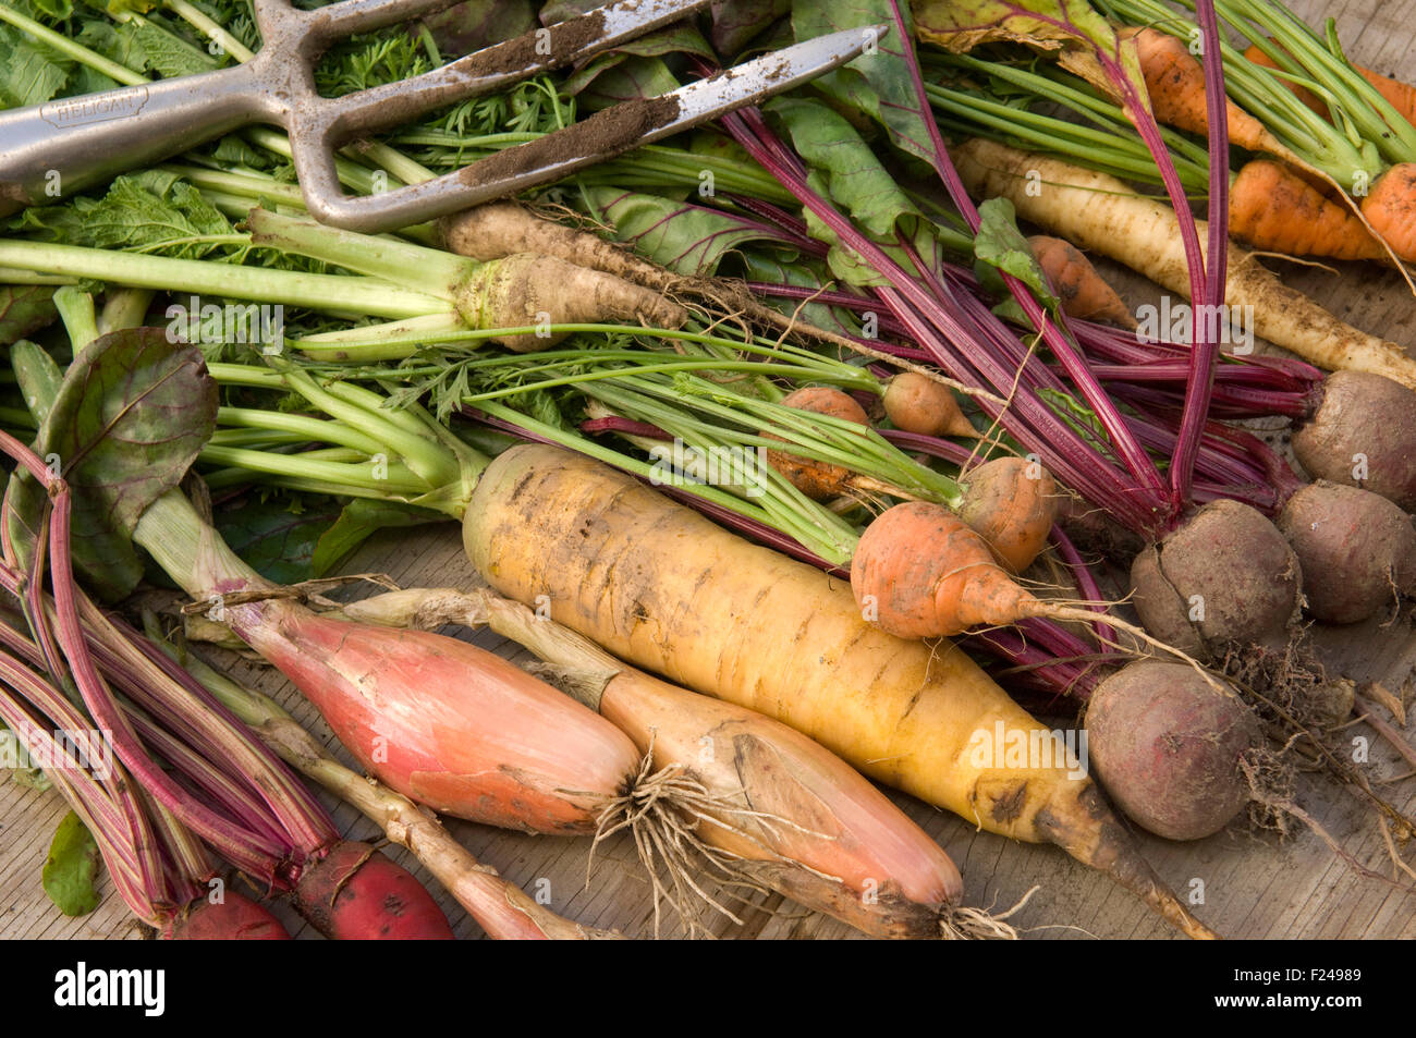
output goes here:
<path id="1" fill-rule="evenodd" d="M 729 882 L 775 889 L 877 937 L 1015 936 L 1005 919 L 1020 906 L 990 915 L 960 905 L 959 869 L 939 844 L 845 762 L 772 718 L 634 670 L 484 589 L 391 592 L 347 612 L 395 624 L 487 624 L 531 649 L 654 766 L 680 769 L 677 803 L 691 807 L 684 827 Z"/>

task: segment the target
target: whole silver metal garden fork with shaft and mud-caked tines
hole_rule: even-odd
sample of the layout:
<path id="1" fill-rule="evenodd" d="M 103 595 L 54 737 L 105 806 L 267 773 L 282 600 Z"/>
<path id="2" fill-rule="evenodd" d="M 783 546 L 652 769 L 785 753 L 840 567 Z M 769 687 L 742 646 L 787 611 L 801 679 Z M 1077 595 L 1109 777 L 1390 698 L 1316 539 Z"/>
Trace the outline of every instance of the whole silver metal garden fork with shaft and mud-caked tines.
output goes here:
<path id="1" fill-rule="evenodd" d="M 469 54 L 432 72 L 323 98 L 314 65 L 344 35 L 447 7 L 455 0 L 343 0 L 312 11 L 252 0 L 262 48 L 242 65 L 0 112 L 0 215 L 160 161 L 251 123 L 290 136 L 310 212 L 353 231 L 389 231 L 569 176 L 596 161 L 758 103 L 852 59 L 884 25 L 809 40 L 660 98 L 589 119 L 421 184 L 346 195 L 334 150 L 466 98 L 617 47 L 705 7 L 708 0 L 620 0 Z"/>

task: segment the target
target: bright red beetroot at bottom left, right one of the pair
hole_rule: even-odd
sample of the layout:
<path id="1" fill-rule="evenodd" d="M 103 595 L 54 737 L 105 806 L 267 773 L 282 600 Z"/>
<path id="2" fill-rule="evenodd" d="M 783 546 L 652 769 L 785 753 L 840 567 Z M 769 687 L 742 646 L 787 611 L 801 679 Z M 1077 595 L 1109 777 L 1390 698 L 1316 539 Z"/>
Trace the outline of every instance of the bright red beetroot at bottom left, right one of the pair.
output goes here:
<path id="1" fill-rule="evenodd" d="M 333 940 L 453 939 L 447 916 L 408 869 L 350 840 L 300 874 L 295 906 Z"/>

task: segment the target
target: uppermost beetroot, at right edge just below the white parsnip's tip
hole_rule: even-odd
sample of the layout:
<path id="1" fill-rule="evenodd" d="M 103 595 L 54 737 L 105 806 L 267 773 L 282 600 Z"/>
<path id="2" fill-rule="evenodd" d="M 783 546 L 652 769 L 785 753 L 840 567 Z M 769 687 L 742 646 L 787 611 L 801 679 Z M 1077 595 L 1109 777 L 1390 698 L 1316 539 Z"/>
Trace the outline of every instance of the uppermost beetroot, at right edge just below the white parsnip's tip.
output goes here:
<path id="1" fill-rule="evenodd" d="M 1416 392 L 1382 375 L 1335 371 L 1293 435 L 1314 479 L 1362 487 L 1416 511 Z"/>

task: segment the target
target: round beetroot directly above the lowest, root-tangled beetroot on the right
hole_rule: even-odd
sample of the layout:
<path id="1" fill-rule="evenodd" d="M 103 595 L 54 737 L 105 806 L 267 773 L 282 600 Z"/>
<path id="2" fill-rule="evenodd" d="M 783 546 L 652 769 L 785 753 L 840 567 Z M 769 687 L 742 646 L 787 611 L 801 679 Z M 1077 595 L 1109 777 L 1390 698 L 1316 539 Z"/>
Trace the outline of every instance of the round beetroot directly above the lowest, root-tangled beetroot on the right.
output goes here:
<path id="1" fill-rule="evenodd" d="M 1300 581 L 1298 558 L 1279 528 L 1229 500 L 1206 504 L 1131 564 L 1146 629 L 1201 658 L 1225 644 L 1286 644 Z"/>

